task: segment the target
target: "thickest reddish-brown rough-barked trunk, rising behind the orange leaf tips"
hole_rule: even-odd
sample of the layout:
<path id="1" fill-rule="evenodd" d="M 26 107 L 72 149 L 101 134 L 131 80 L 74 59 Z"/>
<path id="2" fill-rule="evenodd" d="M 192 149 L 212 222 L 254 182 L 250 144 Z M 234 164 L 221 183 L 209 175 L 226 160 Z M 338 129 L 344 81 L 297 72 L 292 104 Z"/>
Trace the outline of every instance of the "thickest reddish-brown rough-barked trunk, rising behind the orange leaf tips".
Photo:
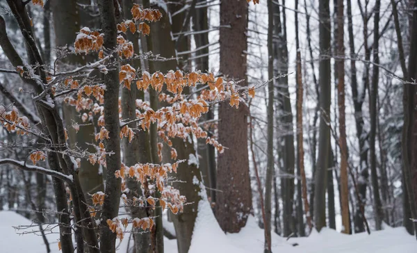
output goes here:
<path id="1" fill-rule="evenodd" d="M 220 3 L 220 72 L 227 79 L 246 79 L 247 2 L 238 0 Z M 231 26 L 227 28 L 224 26 Z M 247 82 L 239 83 L 246 86 Z M 245 226 L 252 209 L 249 158 L 247 152 L 248 108 L 241 104 L 231 108 L 220 103 L 218 140 L 225 149 L 218 156 L 215 215 L 223 231 L 237 233 Z M 238 215 L 237 215 L 238 214 Z"/>

